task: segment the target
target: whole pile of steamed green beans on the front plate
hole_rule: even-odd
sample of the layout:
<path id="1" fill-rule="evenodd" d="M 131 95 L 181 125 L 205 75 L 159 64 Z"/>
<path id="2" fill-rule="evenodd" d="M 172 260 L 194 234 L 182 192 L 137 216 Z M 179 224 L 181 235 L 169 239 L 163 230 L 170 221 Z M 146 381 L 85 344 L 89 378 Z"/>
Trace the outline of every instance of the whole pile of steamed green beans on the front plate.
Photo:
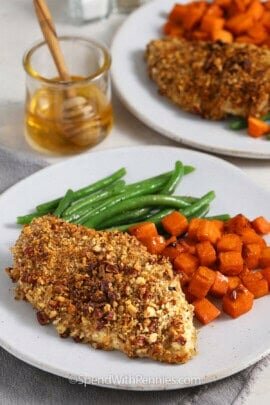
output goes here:
<path id="1" fill-rule="evenodd" d="M 200 198 L 173 195 L 183 177 L 194 170 L 177 161 L 170 172 L 126 184 L 123 179 L 126 169 L 121 168 L 84 188 L 68 189 L 64 196 L 39 204 L 35 212 L 17 217 L 17 223 L 29 224 L 34 218 L 51 214 L 88 228 L 127 231 L 146 220 L 158 225 L 174 210 L 189 219 L 205 217 L 215 198 L 214 191 Z M 228 219 L 228 215 L 222 214 L 220 218 Z"/>

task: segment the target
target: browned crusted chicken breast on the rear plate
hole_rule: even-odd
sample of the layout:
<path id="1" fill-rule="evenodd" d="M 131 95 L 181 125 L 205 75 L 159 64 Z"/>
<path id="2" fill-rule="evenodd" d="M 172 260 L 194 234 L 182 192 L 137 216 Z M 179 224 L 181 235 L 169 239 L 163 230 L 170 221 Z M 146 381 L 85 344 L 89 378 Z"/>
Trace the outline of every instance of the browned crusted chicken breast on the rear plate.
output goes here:
<path id="1" fill-rule="evenodd" d="M 149 76 L 181 109 L 211 120 L 270 111 L 270 50 L 165 38 L 146 50 Z"/>

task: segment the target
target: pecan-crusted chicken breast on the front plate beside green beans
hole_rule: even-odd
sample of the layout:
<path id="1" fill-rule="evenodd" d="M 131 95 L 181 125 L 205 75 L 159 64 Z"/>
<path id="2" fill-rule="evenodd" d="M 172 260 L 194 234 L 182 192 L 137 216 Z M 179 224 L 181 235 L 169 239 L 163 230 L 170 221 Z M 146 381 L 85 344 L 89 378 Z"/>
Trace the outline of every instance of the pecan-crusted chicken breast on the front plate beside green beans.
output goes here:
<path id="1" fill-rule="evenodd" d="M 60 336 L 168 363 L 194 356 L 193 307 L 179 277 L 135 237 L 46 216 L 23 228 L 13 257 L 16 297 Z"/>

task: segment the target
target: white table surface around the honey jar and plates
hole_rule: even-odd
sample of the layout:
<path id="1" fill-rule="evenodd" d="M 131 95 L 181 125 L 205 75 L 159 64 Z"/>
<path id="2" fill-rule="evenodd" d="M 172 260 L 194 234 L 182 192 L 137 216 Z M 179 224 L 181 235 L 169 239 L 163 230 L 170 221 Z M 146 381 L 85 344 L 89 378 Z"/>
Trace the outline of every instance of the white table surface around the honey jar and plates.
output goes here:
<path id="1" fill-rule="evenodd" d="M 67 18 L 67 0 L 48 0 L 54 14 L 58 32 L 81 34 L 99 39 L 110 45 L 113 34 L 124 16 L 112 16 L 108 20 L 82 26 L 72 25 Z M 28 151 L 46 159 L 49 163 L 59 158 L 39 155 L 31 151 L 23 137 L 23 103 L 25 77 L 22 54 L 41 38 L 30 0 L 1 0 L 0 7 L 0 145 L 13 150 Z M 92 150 L 104 150 L 119 146 L 181 145 L 155 133 L 133 117 L 114 96 L 115 126 L 109 137 Z M 243 169 L 247 175 L 270 192 L 269 160 L 224 158 Z M 270 403 L 270 367 L 265 369 L 250 393 L 247 405 Z"/>

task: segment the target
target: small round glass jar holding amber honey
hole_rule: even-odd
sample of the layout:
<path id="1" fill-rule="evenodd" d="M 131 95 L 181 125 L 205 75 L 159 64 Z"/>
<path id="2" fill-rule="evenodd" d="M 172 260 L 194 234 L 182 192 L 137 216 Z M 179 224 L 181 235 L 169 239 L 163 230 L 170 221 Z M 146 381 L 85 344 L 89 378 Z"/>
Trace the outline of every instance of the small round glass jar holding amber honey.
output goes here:
<path id="1" fill-rule="evenodd" d="M 45 42 L 26 52 L 25 136 L 40 152 L 67 155 L 101 142 L 113 124 L 107 49 L 90 39 L 60 37 L 71 80 L 61 81 Z"/>

